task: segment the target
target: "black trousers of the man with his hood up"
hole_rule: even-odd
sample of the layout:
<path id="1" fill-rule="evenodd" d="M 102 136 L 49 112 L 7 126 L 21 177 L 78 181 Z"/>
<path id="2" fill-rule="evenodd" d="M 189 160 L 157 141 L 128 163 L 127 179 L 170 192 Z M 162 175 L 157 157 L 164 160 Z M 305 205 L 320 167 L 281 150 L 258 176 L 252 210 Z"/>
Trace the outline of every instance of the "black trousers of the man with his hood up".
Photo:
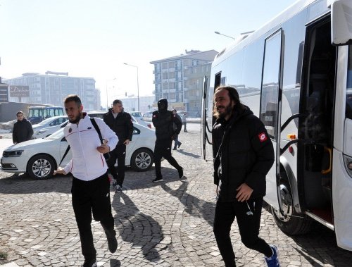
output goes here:
<path id="1" fill-rule="evenodd" d="M 175 158 L 171 156 L 171 144 L 172 140 L 156 140 L 154 148 L 154 164 L 155 164 L 155 173 L 157 178 L 163 178 L 161 175 L 161 158 L 166 159 L 172 167 L 176 170 L 182 168 Z"/>

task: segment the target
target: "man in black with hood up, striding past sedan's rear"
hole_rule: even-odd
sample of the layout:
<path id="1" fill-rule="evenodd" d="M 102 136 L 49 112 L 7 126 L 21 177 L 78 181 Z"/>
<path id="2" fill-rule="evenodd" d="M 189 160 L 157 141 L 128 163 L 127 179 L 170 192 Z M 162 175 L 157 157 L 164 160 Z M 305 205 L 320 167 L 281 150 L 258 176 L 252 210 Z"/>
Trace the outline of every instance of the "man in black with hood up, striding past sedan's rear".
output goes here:
<path id="1" fill-rule="evenodd" d="M 176 170 L 179 178 L 183 178 L 183 168 L 171 156 L 171 144 L 176 135 L 180 134 L 182 123 L 172 111 L 168 111 L 168 100 L 160 99 L 158 101 L 158 111 L 153 112 L 153 125 L 156 128 L 156 142 L 154 148 L 154 163 L 156 178 L 153 182 L 163 181 L 161 175 L 161 158 L 164 157 Z M 176 129 L 174 128 L 174 123 Z"/>

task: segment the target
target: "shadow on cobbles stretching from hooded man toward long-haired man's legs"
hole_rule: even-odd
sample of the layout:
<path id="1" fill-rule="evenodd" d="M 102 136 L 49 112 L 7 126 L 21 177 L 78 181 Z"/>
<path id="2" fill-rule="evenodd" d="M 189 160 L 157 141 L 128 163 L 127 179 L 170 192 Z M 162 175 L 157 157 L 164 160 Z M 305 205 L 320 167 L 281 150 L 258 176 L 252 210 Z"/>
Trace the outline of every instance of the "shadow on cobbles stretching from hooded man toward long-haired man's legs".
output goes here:
<path id="1" fill-rule="evenodd" d="M 213 227 L 215 203 L 204 201 L 187 193 L 188 182 L 182 180 L 182 185 L 177 190 L 172 190 L 165 183 L 160 184 L 165 192 L 168 192 L 184 205 L 186 211 L 192 217 L 201 217 Z"/>

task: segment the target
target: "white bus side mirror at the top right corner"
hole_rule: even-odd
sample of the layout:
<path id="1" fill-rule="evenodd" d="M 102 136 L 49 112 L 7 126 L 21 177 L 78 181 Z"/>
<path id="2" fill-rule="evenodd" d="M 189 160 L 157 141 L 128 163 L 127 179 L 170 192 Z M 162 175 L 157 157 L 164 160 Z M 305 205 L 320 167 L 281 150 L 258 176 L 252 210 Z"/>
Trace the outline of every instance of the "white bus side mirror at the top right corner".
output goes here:
<path id="1" fill-rule="evenodd" d="M 352 44 L 352 1 L 335 0 L 331 4 L 332 44 Z"/>

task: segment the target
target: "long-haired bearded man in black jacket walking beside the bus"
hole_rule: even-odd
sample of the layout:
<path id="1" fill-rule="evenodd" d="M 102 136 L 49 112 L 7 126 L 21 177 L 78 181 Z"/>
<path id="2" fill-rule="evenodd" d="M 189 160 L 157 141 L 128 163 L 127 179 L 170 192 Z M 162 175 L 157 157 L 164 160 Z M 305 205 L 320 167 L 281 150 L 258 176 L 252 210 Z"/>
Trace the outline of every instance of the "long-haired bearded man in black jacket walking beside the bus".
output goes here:
<path id="1" fill-rule="evenodd" d="M 241 104 L 234 87 L 215 90 L 213 115 L 214 183 L 218 201 L 214 234 L 225 266 L 236 266 L 230 230 L 237 218 L 241 241 L 279 266 L 277 247 L 258 237 L 265 196 L 265 175 L 274 163 L 274 149 L 263 123 Z"/>

